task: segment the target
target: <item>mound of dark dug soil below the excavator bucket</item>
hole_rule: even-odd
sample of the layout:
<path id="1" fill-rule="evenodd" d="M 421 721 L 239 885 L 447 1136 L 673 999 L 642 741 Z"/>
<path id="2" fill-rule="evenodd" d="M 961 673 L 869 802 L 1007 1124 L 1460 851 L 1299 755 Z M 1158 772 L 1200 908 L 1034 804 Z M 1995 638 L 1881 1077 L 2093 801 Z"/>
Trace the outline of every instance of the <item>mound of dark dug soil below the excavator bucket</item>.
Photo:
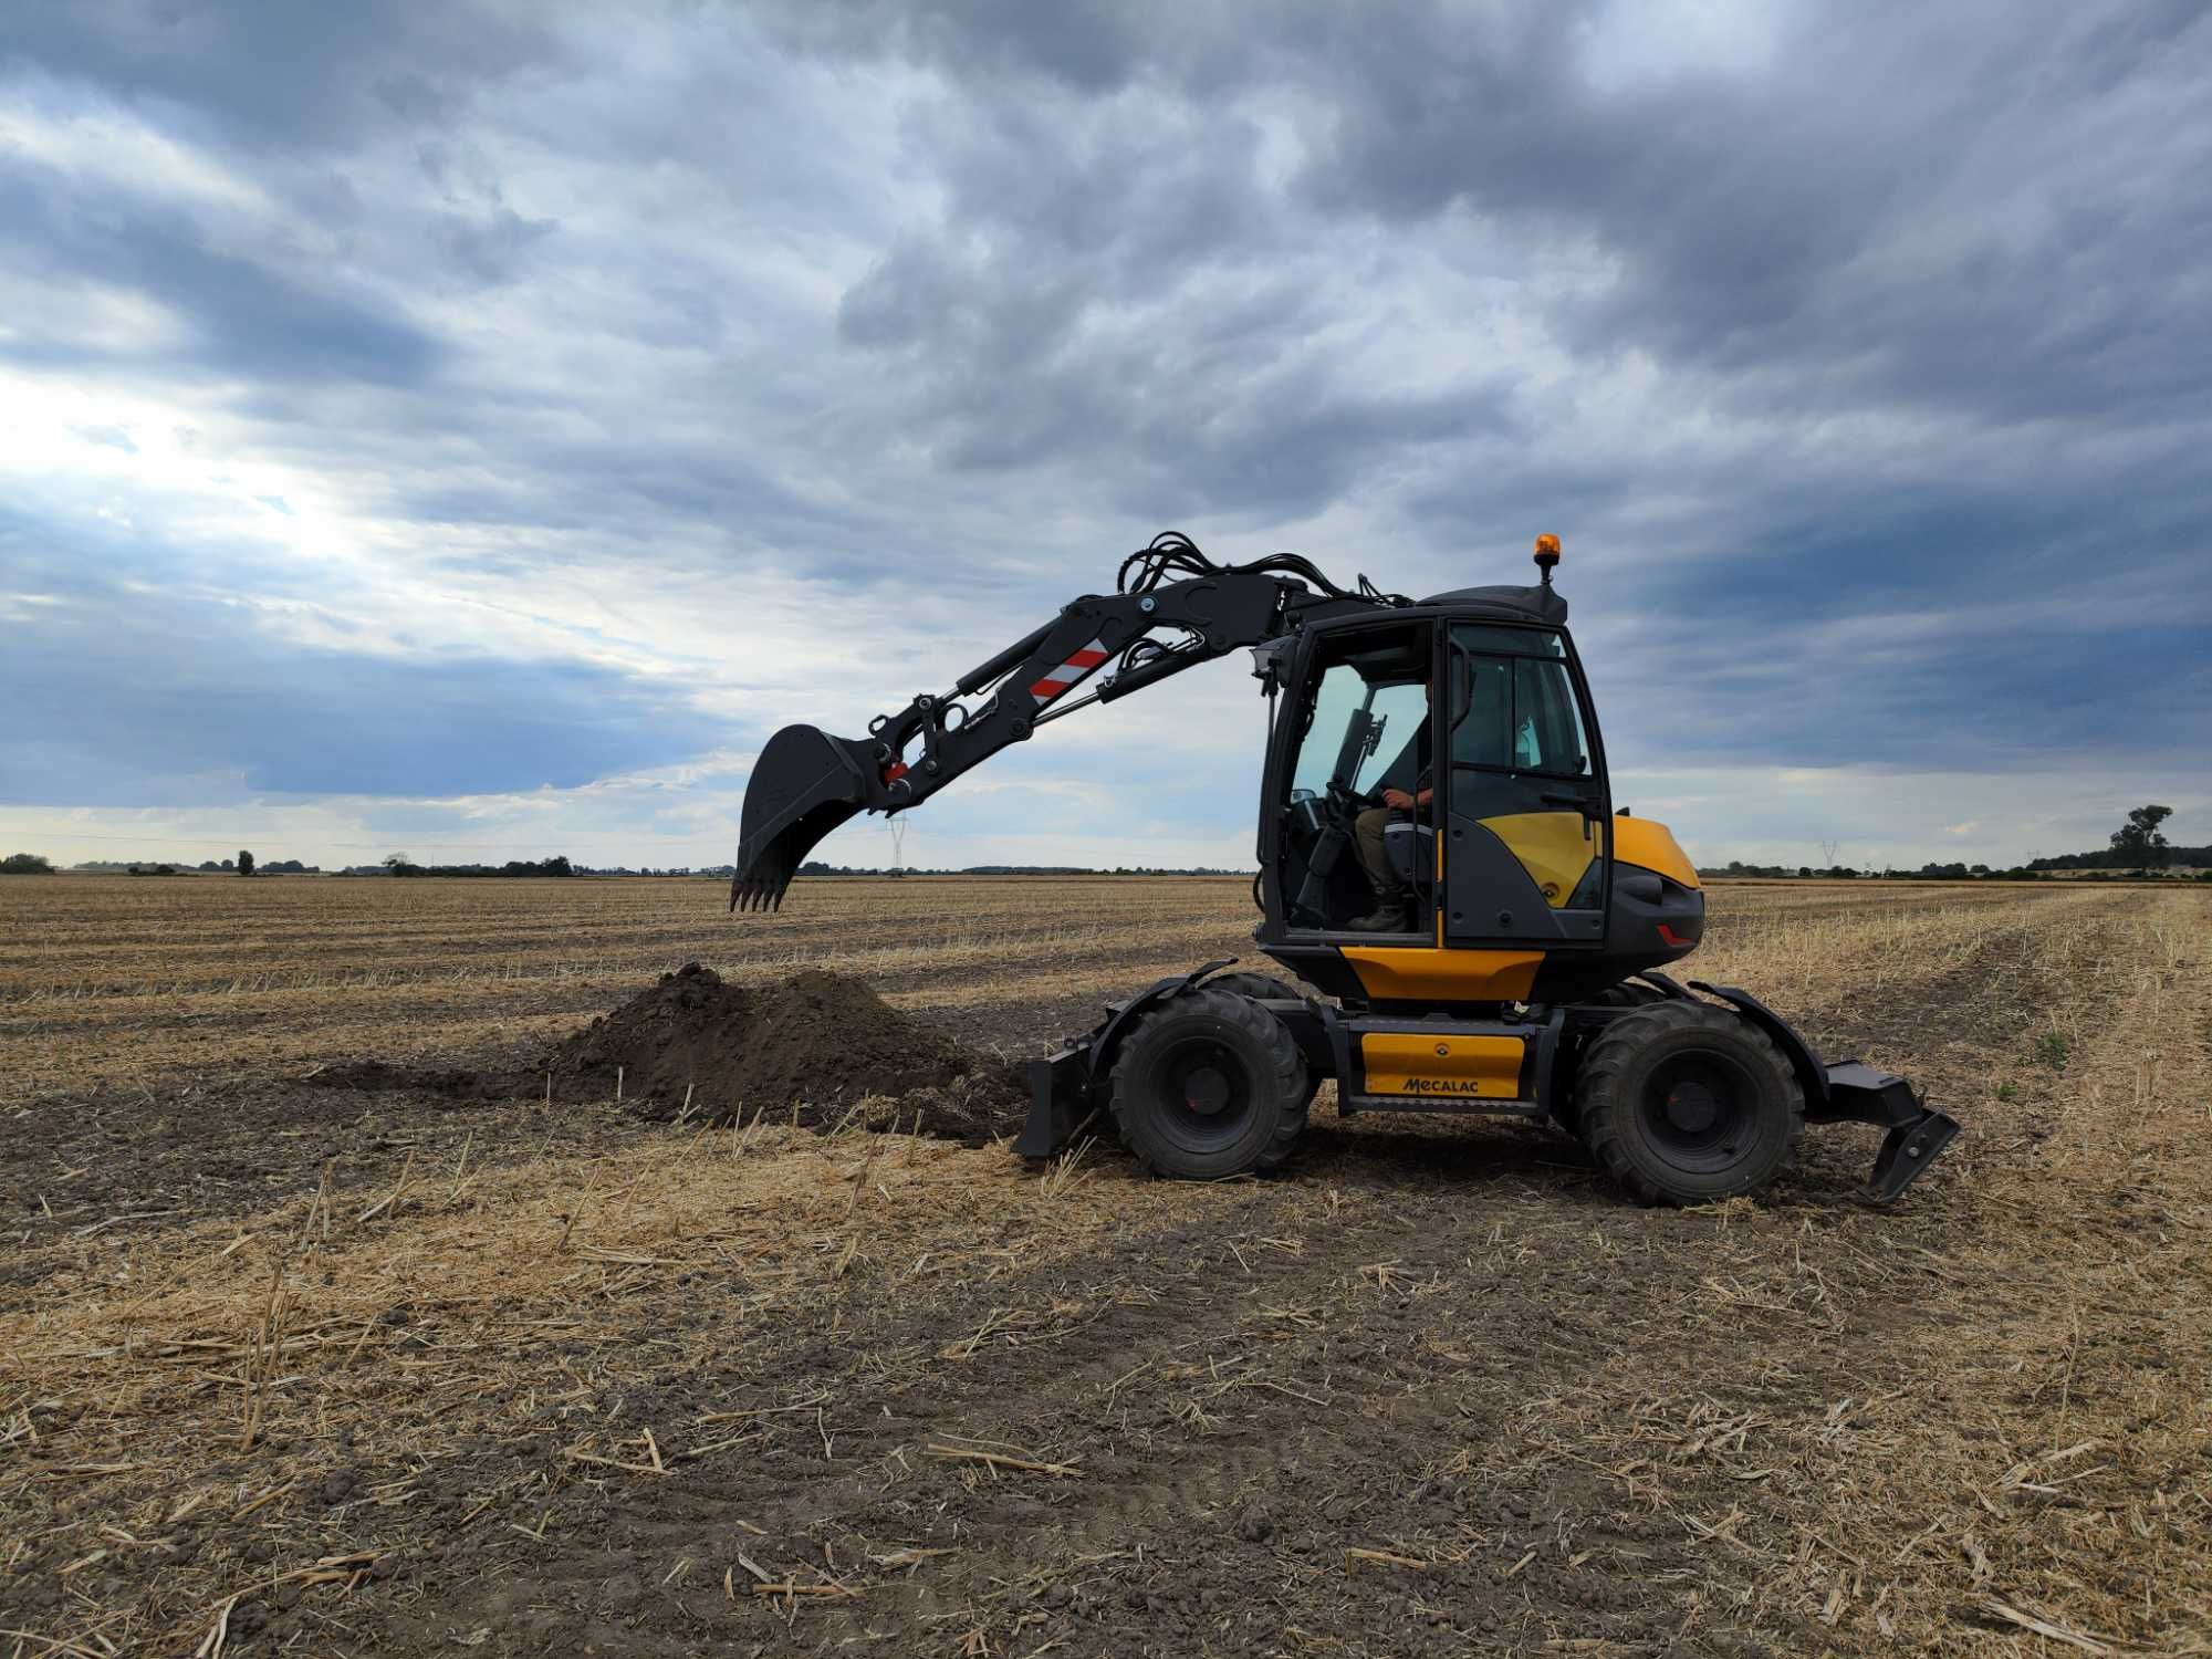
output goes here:
<path id="1" fill-rule="evenodd" d="M 863 980 L 816 969 L 743 987 L 688 962 L 546 1057 L 555 1093 L 582 1084 L 604 1099 L 617 1068 L 641 1113 L 675 1117 L 690 1091 L 690 1117 L 708 1124 L 792 1108 L 801 1124 L 834 1124 L 883 1097 L 920 1110 L 938 1135 L 1000 1135 L 1026 1106 L 1013 1066 L 900 1013 Z"/>

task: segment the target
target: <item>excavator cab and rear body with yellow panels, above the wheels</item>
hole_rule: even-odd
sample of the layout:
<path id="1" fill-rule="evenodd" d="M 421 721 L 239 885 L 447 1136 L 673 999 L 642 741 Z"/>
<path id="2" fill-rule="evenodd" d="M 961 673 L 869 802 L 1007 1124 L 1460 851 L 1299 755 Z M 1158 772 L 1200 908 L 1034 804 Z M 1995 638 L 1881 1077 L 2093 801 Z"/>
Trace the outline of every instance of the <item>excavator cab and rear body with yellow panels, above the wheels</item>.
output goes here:
<path id="1" fill-rule="evenodd" d="M 1321 619 L 1261 648 L 1259 672 L 1283 717 L 1261 785 L 1254 940 L 1318 991 L 1571 1000 L 1697 947 L 1697 872 L 1663 825 L 1615 814 L 1548 580 Z M 1387 810 L 1391 790 L 1427 801 Z M 1354 927 L 1378 894 L 1383 911 L 1402 900 L 1402 927 Z"/>

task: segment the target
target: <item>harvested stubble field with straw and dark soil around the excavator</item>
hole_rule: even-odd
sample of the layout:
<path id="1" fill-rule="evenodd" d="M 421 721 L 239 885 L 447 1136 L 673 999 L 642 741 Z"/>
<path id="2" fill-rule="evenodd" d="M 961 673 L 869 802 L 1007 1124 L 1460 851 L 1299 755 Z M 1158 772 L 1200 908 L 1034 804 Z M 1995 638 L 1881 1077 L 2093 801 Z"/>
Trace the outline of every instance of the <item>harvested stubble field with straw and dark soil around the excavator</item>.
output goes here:
<path id="1" fill-rule="evenodd" d="M 0 883 L 0 1655 L 2212 1652 L 2199 891 L 1714 889 L 1701 978 L 1964 1124 L 1893 1210 L 1856 1126 L 1663 1212 L 1517 1124 L 1321 1106 L 1197 1188 L 325 1075 L 526 1066 L 688 960 L 1015 1060 L 1248 931 Z"/>

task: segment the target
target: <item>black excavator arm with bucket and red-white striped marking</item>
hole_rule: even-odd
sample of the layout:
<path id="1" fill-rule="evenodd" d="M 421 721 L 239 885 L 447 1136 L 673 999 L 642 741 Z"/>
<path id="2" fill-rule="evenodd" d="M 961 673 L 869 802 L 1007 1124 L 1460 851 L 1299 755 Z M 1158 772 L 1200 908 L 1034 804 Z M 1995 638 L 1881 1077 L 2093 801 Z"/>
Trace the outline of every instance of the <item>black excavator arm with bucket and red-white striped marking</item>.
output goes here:
<path id="1" fill-rule="evenodd" d="M 745 785 L 730 909 L 779 909 L 799 865 L 841 823 L 920 805 L 1046 721 L 1321 617 L 1405 604 L 1365 577 L 1356 591 L 1338 588 L 1287 553 L 1212 564 L 1172 533 L 1124 560 L 1119 588 L 1073 599 L 962 675 L 949 695 L 925 692 L 896 714 L 878 714 L 865 739 L 816 726 L 770 737 Z M 1106 664 L 1115 672 L 1095 692 L 1062 701 Z"/>

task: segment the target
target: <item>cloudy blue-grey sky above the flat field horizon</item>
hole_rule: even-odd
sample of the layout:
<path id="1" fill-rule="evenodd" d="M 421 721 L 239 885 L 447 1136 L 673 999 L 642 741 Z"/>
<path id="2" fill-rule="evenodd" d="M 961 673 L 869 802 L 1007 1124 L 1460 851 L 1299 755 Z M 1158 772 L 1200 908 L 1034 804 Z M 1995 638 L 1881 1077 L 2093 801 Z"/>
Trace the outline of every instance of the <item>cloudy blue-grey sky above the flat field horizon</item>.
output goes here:
<path id="1" fill-rule="evenodd" d="M 2194 2 L 9 7 L 0 841 L 723 863 L 1166 526 L 1559 533 L 1699 860 L 2212 841 L 2208 88 Z M 1248 863 L 1261 721 L 909 858 Z"/>

